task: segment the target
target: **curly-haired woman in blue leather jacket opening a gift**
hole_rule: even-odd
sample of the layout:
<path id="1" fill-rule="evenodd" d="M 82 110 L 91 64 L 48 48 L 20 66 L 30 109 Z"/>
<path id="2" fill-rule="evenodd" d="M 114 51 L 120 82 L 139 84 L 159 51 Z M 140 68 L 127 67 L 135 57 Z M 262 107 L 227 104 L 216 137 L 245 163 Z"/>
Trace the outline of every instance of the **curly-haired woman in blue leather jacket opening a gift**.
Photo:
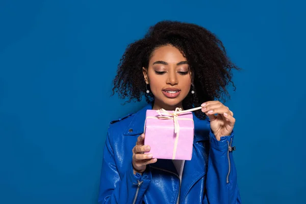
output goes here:
<path id="1" fill-rule="evenodd" d="M 233 112 L 228 95 L 232 69 L 222 42 L 195 24 L 161 21 L 130 44 L 120 60 L 113 91 L 148 105 L 110 123 L 99 203 L 241 203 L 233 161 Z M 192 159 L 162 160 L 147 154 L 146 110 L 192 112 Z"/>

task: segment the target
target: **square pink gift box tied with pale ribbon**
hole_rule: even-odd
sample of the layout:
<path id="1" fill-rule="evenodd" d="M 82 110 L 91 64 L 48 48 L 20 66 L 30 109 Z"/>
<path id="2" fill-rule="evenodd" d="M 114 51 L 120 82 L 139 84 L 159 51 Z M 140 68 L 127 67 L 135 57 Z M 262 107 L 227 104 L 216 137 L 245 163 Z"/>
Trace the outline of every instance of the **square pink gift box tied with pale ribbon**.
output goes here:
<path id="1" fill-rule="evenodd" d="M 194 123 L 192 112 L 177 115 L 179 124 L 178 134 L 174 132 L 173 111 L 158 114 L 156 110 L 146 111 L 144 145 L 150 146 L 153 158 L 191 160 L 194 136 Z"/>

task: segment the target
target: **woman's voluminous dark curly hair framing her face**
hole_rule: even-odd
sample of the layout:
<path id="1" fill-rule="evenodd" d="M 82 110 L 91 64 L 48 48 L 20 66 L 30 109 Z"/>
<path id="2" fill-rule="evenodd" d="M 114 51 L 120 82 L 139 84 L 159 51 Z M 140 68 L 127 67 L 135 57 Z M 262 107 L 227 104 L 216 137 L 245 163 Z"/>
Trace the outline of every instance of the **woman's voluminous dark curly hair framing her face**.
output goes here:
<path id="1" fill-rule="evenodd" d="M 178 48 L 190 66 L 194 94 L 183 100 L 183 108 L 200 106 L 203 102 L 218 99 L 225 102 L 230 97 L 226 86 L 232 84 L 232 69 L 239 69 L 226 56 L 222 42 L 210 31 L 193 23 L 160 21 L 150 27 L 144 38 L 129 44 L 118 64 L 114 79 L 114 92 L 128 101 L 140 101 L 145 96 L 148 103 L 154 101 L 152 93 L 146 93 L 142 67 L 148 68 L 152 52 L 160 46 Z M 205 113 L 195 111 L 204 119 Z"/>

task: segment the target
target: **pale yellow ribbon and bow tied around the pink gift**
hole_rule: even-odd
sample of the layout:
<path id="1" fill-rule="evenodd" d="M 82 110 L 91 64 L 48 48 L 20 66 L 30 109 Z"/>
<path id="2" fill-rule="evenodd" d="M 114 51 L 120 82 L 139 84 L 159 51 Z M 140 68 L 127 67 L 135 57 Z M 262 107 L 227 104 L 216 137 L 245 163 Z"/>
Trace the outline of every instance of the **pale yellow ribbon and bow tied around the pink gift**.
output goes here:
<path id="1" fill-rule="evenodd" d="M 179 136 L 180 136 L 180 125 L 179 125 L 179 120 L 192 120 L 191 118 L 179 118 L 178 116 L 181 113 L 186 113 L 186 112 L 192 112 L 195 110 L 199 110 L 202 107 L 197 107 L 197 108 L 193 108 L 193 109 L 189 109 L 189 110 L 185 110 L 182 111 L 181 108 L 176 108 L 175 111 L 172 111 L 172 113 L 169 113 L 168 111 L 166 111 L 165 109 L 159 109 L 156 112 L 158 113 L 158 116 L 154 117 L 154 116 L 148 116 L 145 118 L 144 121 L 144 131 L 145 132 L 145 123 L 146 123 L 146 119 L 147 118 L 156 118 L 156 119 L 173 119 L 174 122 L 174 133 L 176 134 L 175 137 L 175 142 L 174 142 L 174 147 L 173 147 L 173 154 L 172 154 L 172 160 L 175 159 L 175 155 L 176 155 L 176 148 L 177 148 L 177 143 L 179 143 Z"/>

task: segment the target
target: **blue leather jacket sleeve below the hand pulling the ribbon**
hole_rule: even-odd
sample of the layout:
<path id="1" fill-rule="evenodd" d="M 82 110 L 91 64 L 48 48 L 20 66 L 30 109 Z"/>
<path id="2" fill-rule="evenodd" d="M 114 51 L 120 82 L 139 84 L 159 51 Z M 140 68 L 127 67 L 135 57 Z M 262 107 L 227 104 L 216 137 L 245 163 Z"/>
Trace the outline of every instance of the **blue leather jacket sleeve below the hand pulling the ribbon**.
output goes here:
<path id="1" fill-rule="evenodd" d="M 221 137 L 220 141 L 210 131 L 210 150 L 203 203 L 241 203 L 237 184 L 237 171 L 233 159 L 232 144 L 234 132 Z"/>

